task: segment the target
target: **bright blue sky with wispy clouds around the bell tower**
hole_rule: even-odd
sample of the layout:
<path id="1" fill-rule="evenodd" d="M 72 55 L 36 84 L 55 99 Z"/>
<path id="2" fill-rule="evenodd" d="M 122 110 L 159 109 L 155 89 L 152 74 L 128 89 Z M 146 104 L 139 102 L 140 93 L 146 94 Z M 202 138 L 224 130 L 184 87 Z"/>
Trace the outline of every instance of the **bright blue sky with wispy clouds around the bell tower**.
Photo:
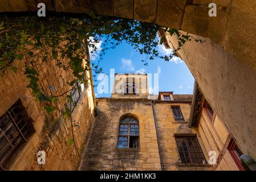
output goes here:
<path id="1" fill-rule="evenodd" d="M 96 44 L 97 52 L 91 55 L 91 63 L 97 64 L 101 43 Z M 163 45 L 157 47 L 160 54 L 170 53 L 170 49 L 165 49 Z M 115 73 L 159 73 L 159 92 L 173 91 L 174 94 L 192 94 L 194 77 L 190 73 L 184 61 L 178 57 L 174 57 L 172 61 L 166 62 L 162 59 L 149 60 L 148 65 L 144 65 L 146 55 L 140 55 L 129 44 L 121 44 L 115 49 L 108 49 L 103 60 L 100 61 L 99 68 L 103 68 L 103 72 L 109 75 L 110 69 L 115 69 Z M 95 84 L 96 85 L 96 84 Z M 111 86 L 108 86 L 112 88 Z M 110 97 L 110 93 L 97 93 L 96 97 Z"/>

